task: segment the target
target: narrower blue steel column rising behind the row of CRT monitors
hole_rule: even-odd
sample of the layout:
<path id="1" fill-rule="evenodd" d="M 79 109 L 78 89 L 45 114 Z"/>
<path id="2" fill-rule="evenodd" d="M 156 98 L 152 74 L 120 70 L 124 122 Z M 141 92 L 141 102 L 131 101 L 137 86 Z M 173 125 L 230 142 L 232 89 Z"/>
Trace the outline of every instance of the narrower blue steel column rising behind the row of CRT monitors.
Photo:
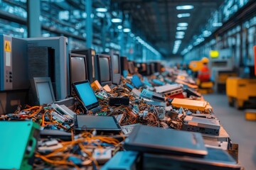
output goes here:
<path id="1" fill-rule="evenodd" d="M 86 47 L 92 47 L 92 0 L 86 0 Z"/>

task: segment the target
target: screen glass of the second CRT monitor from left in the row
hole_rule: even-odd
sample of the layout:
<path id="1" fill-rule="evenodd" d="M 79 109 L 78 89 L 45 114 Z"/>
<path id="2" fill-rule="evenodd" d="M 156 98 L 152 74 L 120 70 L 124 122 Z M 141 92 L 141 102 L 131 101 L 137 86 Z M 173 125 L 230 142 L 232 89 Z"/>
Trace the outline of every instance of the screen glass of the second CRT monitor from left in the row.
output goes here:
<path id="1" fill-rule="evenodd" d="M 110 62 L 107 57 L 100 57 L 100 79 L 102 82 L 110 81 Z"/>

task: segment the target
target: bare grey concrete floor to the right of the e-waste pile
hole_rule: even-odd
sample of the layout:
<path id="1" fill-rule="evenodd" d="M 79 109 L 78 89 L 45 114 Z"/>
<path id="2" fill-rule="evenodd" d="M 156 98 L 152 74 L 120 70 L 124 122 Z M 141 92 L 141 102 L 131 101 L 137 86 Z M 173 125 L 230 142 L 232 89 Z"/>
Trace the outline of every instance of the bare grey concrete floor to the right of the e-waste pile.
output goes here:
<path id="1" fill-rule="evenodd" d="M 245 120 L 245 111 L 238 111 L 228 106 L 228 98 L 224 94 L 204 95 L 213 107 L 220 124 L 230 135 L 233 143 L 238 143 L 238 159 L 246 170 L 256 169 L 256 121 Z"/>

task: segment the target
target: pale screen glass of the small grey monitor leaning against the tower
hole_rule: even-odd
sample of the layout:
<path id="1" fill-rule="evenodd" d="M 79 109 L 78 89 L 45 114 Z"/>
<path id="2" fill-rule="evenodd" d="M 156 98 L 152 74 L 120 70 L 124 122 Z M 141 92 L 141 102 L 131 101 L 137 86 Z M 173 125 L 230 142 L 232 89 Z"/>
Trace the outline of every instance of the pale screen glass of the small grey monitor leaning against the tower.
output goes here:
<path id="1" fill-rule="evenodd" d="M 48 81 L 46 82 L 38 82 L 36 83 L 38 90 L 38 98 L 39 103 L 42 105 L 44 103 L 53 103 L 53 94 L 50 91 L 50 84 Z"/>

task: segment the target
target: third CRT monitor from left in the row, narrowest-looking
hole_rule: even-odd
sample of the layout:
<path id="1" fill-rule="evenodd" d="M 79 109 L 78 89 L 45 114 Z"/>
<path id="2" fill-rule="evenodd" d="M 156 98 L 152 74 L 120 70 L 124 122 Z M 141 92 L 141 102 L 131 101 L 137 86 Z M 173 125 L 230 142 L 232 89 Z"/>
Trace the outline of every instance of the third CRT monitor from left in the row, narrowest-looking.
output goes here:
<path id="1" fill-rule="evenodd" d="M 120 57 L 116 52 L 111 52 L 112 61 L 112 81 L 113 84 L 119 84 L 121 79 Z"/>

